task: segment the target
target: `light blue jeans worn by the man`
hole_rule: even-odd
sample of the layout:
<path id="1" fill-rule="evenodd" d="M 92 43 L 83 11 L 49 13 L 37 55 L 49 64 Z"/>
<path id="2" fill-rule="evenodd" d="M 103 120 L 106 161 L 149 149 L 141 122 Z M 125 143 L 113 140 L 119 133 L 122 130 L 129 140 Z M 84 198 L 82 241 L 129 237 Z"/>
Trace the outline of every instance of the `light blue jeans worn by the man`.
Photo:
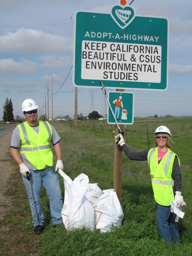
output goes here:
<path id="1" fill-rule="evenodd" d="M 50 212 L 52 216 L 53 225 L 58 225 L 63 222 L 62 220 L 62 207 L 63 207 L 63 198 L 59 185 L 58 174 L 54 171 L 53 167 L 48 167 L 43 170 L 30 170 L 30 181 L 27 180 L 25 176 L 22 175 L 23 183 L 25 185 L 27 196 L 30 202 L 30 208 L 32 212 L 34 226 L 44 225 L 43 212 L 40 204 L 40 193 L 42 183 L 46 188 L 47 195 L 50 203 Z M 36 209 L 36 214 L 33 208 L 33 201 L 31 198 L 30 184 L 32 188 L 34 207 Z M 36 221 L 37 217 L 37 221 Z"/>

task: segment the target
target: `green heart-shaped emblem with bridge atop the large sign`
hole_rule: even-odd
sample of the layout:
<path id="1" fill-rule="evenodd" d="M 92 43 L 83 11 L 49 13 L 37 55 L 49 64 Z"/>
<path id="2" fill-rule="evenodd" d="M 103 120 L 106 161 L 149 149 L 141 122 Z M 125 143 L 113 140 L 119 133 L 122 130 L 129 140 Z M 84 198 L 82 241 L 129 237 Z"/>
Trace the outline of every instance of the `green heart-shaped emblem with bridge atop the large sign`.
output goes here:
<path id="1" fill-rule="evenodd" d="M 119 5 L 114 5 L 111 9 L 111 17 L 122 29 L 126 28 L 134 20 L 135 15 L 135 9 L 130 6 L 122 8 Z"/>

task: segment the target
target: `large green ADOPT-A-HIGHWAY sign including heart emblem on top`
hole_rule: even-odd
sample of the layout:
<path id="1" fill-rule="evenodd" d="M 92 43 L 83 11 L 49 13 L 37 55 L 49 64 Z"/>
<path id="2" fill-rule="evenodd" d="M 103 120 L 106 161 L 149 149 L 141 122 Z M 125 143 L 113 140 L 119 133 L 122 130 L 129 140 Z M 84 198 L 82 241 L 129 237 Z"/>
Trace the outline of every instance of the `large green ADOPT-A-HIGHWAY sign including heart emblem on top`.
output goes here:
<path id="1" fill-rule="evenodd" d="M 74 22 L 75 86 L 167 89 L 167 18 L 115 5 L 111 14 L 77 11 Z"/>

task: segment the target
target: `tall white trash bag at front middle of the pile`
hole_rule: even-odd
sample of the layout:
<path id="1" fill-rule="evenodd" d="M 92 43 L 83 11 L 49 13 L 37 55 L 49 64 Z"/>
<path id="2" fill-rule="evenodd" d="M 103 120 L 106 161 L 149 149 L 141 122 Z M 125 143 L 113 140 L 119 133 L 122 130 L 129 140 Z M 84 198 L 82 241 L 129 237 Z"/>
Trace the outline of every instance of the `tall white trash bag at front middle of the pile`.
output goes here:
<path id="1" fill-rule="evenodd" d="M 72 202 L 69 208 L 69 220 L 67 229 L 85 227 L 94 231 L 94 208 L 87 199 L 85 193 L 89 186 L 89 178 L 85 174 L 80 174 L 70 183 Z"/>

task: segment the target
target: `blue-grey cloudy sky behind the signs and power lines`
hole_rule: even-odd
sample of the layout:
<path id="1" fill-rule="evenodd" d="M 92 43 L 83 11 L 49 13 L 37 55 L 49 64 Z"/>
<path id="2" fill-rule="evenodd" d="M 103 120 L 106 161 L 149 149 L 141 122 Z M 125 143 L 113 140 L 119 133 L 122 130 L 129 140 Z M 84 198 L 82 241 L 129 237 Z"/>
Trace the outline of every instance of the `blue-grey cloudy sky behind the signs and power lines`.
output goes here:
<path id="1" fill-rule="evenodd" d="M 6 98 L 12 100 L 15 117 L 23 116 L 21 105 L 26 98 L 35 100 L 45 113 L 47 90 L 51 118 L 52 84 L 53 118 L 74 116 L 75 11 L 110 13 L 113 5 L 119 1 L 0 0 L 0 120 Z M 126 89 L 134 93 L 134 117 L 192 116 L 192 1 L 134 0 L 131 6 L 136 15 L 169 20 L 167 90 Z M 78 114 L 87 116 L 93 110 L 106 114 L 103 92 L 98 87 L 78 87 Z"/>

